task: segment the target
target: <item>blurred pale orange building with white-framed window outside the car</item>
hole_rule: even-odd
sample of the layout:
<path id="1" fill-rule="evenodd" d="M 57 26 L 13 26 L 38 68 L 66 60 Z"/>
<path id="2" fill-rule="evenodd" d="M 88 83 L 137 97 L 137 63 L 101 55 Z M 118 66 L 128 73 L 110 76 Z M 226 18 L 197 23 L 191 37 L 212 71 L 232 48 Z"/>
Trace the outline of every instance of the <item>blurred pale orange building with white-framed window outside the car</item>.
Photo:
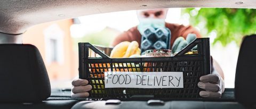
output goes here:
<path id="1" fill-rule="evenodd" d="M 67 81 L 78 76 L 78 53 L 74 51 L 70 36 L 70 26 L 74 21 L 38 24 L 23 35 L 23 44 L 32 44 L 39 49 L 52 84 L 53 81 Z"/>

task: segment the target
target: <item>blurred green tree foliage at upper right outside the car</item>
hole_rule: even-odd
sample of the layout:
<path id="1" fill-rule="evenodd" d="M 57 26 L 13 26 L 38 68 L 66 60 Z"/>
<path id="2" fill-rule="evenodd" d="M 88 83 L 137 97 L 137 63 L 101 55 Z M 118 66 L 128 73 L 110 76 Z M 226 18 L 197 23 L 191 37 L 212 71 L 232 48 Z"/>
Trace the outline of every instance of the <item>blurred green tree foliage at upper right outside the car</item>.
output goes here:
<path id="1" fill-rule="evenodd" d="M 255 9 L 186 8 L 182 9 L 182 14 L 189 14 L 192 26 L 206 30 L 203 36 L 217 32 L 213 44 L 217 41 L 223 46 L 231 41 L 240 44 L 243 36 L 256 33 Z"/>

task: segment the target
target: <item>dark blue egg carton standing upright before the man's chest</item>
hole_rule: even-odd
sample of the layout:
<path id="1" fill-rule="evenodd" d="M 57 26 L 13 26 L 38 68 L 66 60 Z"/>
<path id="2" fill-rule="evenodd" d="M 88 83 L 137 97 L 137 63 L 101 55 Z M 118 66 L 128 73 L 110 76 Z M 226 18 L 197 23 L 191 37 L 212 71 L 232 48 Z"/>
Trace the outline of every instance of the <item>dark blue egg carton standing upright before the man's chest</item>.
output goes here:
<path id="1" fill-rule="evenodd" d="M 168 28 L 148 27 L 141 36 L 141 53 L 148 49 L 170 49 L 171 31 Z"/>

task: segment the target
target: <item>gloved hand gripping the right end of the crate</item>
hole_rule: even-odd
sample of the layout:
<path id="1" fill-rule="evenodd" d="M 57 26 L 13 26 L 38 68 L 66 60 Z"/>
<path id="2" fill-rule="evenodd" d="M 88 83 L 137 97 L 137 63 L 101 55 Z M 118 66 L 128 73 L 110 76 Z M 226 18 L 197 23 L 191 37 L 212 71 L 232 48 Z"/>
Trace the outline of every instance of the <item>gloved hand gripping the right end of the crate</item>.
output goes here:
<path id="1" fill-rule="evenodd" d="M 205 89 L 205 91 L 200 91 L 199 93 L 202 97 L 220 98 L 225 90 L 224 81 L 215 70 L 213 70 L 212 74 L 200 77 L 200 82 L 198 82 L 197 86 Z"/>

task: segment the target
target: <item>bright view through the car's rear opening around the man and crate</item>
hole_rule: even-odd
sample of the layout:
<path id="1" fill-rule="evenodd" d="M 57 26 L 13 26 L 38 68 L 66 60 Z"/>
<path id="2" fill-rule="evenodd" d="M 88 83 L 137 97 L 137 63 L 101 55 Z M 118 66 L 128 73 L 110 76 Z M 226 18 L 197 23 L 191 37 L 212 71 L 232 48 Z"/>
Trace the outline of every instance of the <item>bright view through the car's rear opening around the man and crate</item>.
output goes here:
<path id="1" fill-rule="evenodd" d="M 210 37 L 211 55 L 224 74 L 226 88 L 234 88 L 236 62 L 243 36 L 255 33 L 254 9 L 172 8 L 165 21 L 193 26 Z M 70 88 L 78 78 L 78 44 L 110 46 L 122 32 L 139 24 L 137 11 L 81 16 L 29 28 L 23 43 L 38 47 L 52 88 Z"/>

